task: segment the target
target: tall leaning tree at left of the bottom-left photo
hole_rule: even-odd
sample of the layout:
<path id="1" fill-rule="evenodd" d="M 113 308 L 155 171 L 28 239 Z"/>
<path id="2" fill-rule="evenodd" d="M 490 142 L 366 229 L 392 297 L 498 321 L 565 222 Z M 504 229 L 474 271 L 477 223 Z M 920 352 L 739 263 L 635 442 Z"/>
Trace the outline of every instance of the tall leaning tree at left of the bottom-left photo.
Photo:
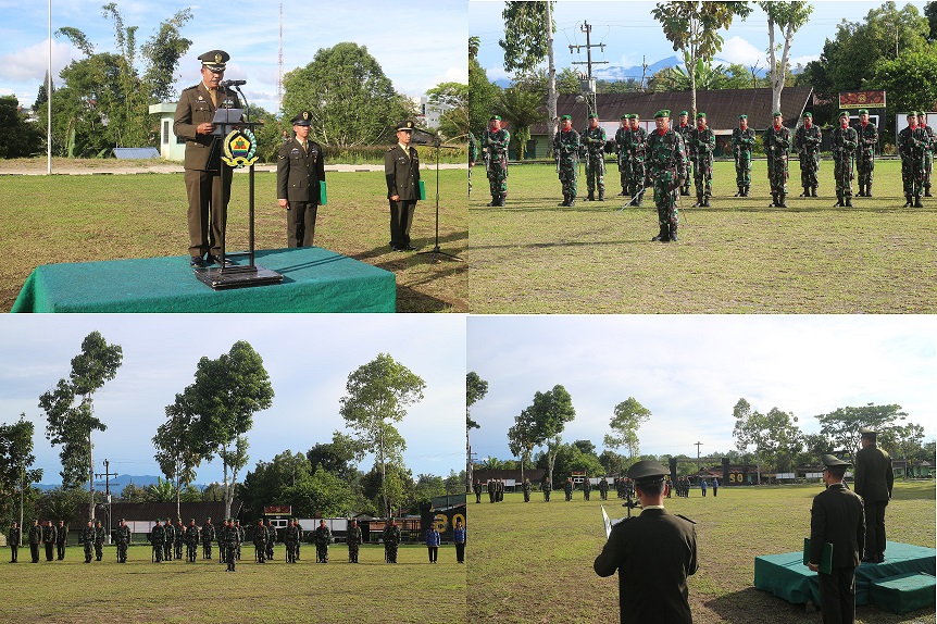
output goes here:
<path id="1" fill-rule="evenodd" d="M 72 358 L 68 379 L 59 379 L 54 390 L 39 397 L 39 407 L 48 420 L 46 438 L 53 445 L 62 446 L 59 453 L 62 459 L 62 487 L 75 489 L 82 483 L 83 475 L 88 475 L 91 520 L 95 519 L 91 434 L 108 428 L 95 416 L 95 392 L 116 376 L 123 358 L 120 345 L 108 345 L 100 332 L 91 332 L 82 341 L 82 352 Z"/>

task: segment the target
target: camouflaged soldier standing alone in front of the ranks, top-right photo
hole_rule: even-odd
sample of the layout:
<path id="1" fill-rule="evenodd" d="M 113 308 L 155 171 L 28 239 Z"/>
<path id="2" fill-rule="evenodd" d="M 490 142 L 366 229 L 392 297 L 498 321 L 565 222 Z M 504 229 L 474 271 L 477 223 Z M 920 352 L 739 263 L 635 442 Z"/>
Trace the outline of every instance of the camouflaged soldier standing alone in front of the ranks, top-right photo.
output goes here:
<path id="1" fill-rule="evenodd" d="M 651 240 L 667 242 L 677 239 L 677 189 L 687 177 L 687 159 L 684 140 L 670 128 L 671 112 L 666 109 L 654 113 L 657 129 L 648 135 L 648 177 L 654 185 L 654 202 L 658 207 L 660 234 Z M 689 191 L 687 191 L 689 194 Z"/>

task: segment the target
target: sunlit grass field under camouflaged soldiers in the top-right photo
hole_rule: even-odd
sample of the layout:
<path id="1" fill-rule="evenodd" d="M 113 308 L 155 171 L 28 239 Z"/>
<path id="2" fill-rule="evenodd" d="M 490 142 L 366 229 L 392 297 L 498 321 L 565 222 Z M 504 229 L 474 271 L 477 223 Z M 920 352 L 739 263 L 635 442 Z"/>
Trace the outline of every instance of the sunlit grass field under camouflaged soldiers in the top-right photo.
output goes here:
<path id="1" fill-rule="evenodd" d="M 735 167 L 717 162 L 711 208 L 682 198 L 679 241 L 652 244 L 657 211 L 625 200 L 610 163 L 610 201 L 558 208 L 552 165 L 510 170 L 504 208 L 482 170 L 469 202 L 469 307 L 474 313 L 933 313 L 937 312 L 937 199 L 902 209 L 900 163 L 875 165 L 874 198 L 836 202 L 833 163 L 817 198 L 799 199 L 792 163 L 787 209 L 771 203 L 765 162 L 751 197 L 734 198 Z M 853 186 L 858 190 L 858 186 Z M 579 176 L 579 197 L 586 182 Z"/>

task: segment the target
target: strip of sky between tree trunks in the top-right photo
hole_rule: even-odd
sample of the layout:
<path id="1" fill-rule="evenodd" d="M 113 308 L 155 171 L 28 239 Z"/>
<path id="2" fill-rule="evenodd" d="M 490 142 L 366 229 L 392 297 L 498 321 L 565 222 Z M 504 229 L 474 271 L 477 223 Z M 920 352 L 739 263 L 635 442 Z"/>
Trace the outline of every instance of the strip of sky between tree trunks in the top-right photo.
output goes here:
<path id="1" fill-rule="evenodd" d="M 651 15 L 655 2 L 635 2 L 621 0 L 579 1 L 558 0 L 553 20 L 557 24 L 554 50 L 557 68 L 570 67 L 572 61 L 585 61 L 585 49 L 582 54 L 570 52 L 571 45 L 585 45 L 586 36 L 580 27 L 584 22 L 592 26 L 591 42 L 605 43 L 604 50 L 592 49 L 592 61 L 608 61 L 608 65 L 597 65 L 594 73 L 598 77 L 612 72 L 615 67 L 640 67 L 644 59 L 653 64 L 673 55 L 673 45 L 663 35 L 660 23 Z M 820 0 L 812 2 L 813 13 L 810 22 L 794 38 L 791 62 L 807 64 L 820 58 L 824 41 L 836 37 L 836 25 L 846 18 L 850 22 L 861 22 L 872 9 L 882 7 L 883 2 L 844 2 L 839 0 Z M 908 4 L 898 2 L 899 7 Z M 911 2 L 924 14 L 926 2 Z M 504 3 L 499 0 L 471 0 L 469 2 L 469 30 L 478 36 L 482 46 L 478 52 L 479 62 L 487 71 L 488 79 L 496 80 L 508 77 L 503 71 L 504 52 L 498 46 L 498 39 L 503 38 L 501 11 Z M 728 32 L 721 32 L 725 43 L 717 58 L 728 63 L 741 63 L 746 66 L 759 63 L 764 70 L 767 66 L 766 50 L 769 46 L 767 20 L 761 9 L 754 8 L 749 17 L 741 22 L 735 20 Z M 575 66 L 584 71 L 583 65 Z M 638 73 L 636 78 L 640 78 Z"/>

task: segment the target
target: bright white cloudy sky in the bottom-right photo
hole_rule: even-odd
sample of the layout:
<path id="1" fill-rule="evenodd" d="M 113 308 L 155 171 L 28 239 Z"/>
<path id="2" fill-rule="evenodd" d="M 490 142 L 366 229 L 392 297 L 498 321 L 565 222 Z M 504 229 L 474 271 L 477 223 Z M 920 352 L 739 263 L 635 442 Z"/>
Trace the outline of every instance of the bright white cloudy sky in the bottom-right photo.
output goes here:
<path id="1" fill-rule="evenodd" d="M 563 441 L 600 451 L 628 397 L 653 414 L 638 432 L 652 454 L 732 450 L 740 398 L 792 412 L 805 433 L 837 408 L 897 403 L 937 435 L 930 316 L 470 316 L 469 370 L 488 382 L 472 408 L 478 459 L 510 459 L 514 416 L 557 384 L 576 409 Z"/>

